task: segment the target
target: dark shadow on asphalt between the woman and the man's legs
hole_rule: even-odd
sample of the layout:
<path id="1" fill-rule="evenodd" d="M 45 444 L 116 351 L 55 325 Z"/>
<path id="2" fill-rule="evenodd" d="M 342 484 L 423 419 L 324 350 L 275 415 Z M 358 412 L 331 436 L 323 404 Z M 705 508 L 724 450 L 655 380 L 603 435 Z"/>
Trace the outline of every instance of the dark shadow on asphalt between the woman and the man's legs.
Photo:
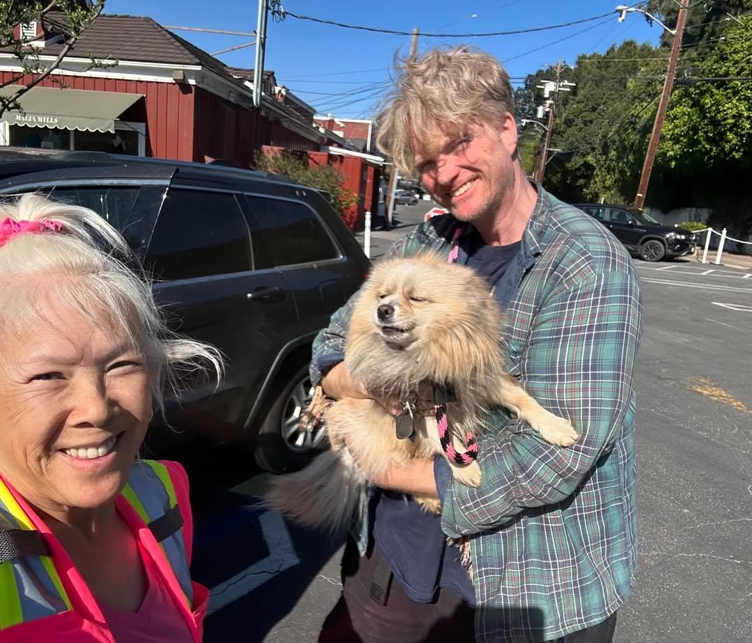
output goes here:
<path id="1" fill-rule="evenodd" d="M 344 534 L 302 529 L 265 509 L 259 496 L 266 476 L 241 448 L 183 461 L 195 525 L 191 574 L 211 590 L 210 606 L 222 605 L 207 617 L 204 641 L 260 643 L 341 548 Z"/>

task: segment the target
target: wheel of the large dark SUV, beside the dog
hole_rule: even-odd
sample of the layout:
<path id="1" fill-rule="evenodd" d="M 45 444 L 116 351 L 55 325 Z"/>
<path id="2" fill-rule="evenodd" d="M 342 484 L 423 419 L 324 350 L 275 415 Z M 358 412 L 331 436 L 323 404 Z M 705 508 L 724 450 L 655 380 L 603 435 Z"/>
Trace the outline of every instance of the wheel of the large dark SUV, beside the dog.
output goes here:
<path id="1" fill-rule="evenodd" d="M 308 366 L 302 367 L 282 388 L 259 429 L 256 463 L 272 473 L 302 469 L 326 442 L 326 428 L 299 433 L 300 415 L 314 397 Z"/>

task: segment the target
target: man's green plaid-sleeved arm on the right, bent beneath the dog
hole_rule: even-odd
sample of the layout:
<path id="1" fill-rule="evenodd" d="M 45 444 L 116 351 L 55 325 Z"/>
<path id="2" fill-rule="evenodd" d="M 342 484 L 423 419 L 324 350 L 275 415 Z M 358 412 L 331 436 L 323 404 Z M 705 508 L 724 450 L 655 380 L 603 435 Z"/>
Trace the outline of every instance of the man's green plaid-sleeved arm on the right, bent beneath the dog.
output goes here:
<path id="1" fill-rule="evenodd" d="M 542 406 L 568 418 L 580 439 L 571 448 L 556 447 L 529 424 L 497 414 L 496 426 L 478 440 L 481 486 L 453 481 L 442 494 L 444 533 L 493 530 L 523 509 L 574 493 L 621 430 L 640 333 L 634 273 L 595 274 L 551 295 L 536 315 L 521 383 Z"/>

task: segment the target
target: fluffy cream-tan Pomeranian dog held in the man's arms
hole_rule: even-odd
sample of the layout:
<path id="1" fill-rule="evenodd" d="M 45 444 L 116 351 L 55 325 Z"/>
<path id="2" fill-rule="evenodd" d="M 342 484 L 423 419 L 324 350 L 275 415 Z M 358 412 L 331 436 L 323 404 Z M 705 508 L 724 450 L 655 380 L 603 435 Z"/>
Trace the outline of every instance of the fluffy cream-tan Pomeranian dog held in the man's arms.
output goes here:
<path id="1" fill-rule="evenodd" d="M 572 425 L 540 406 L 505 372 L 502 313 L 489 290 L 470 268 L 433 254 L 381 262 L 353 308 L 347 370 L 368 391 L 397 393 L 405 401 L 415 400 L 426 384 L 453 388 L 456 401 L 446 405 L 447 437 L 459 454 L 468 433 L 482 435 L 484 416 L 494 406 L 510 409 L 553 445 L 574 444 L 578 434 Z M 397 436 L 396 418 L 374 400 L 332 401 L 325 420 L 331 450 L 305 469 L 275 478 L 266 497 L 269 506 L 308 527 L 347 527 L 363 509 L 368 480 L 378 479 L 392 463 L 446 457 L 430 412 L 414 414 L 409 439 Z M 359 454 L 357 462 L 345 440 Z M 447 460 L 454 478 L 480 485 L 477 462 Z M 414 499 L 426 511 L 441 512 L 435 497 Z"/>

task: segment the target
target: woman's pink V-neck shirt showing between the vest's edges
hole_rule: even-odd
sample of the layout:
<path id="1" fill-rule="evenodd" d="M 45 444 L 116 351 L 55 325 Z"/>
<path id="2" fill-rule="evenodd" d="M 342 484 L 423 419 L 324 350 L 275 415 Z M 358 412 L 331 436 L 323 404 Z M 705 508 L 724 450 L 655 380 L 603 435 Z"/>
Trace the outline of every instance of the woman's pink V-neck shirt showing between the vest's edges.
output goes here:
<path id="1" fill-rule="evenodd" d="M 149 587 L 138 611 L 122 611 L 99 601 L 117 643 L 193 643 L 186 621 L 159 577 L 153 560 L 139 545 Z"/>

